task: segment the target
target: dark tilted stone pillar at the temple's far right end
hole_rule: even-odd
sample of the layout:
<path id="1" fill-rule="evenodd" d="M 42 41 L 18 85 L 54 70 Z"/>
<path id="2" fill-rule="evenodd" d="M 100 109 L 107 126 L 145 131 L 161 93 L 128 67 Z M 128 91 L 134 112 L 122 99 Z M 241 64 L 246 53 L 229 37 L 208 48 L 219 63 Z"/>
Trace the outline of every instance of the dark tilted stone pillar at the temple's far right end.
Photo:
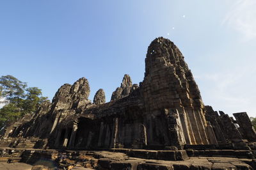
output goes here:
<path id="1" fill-rule="evenodd" d="M 249 142 L 256 142 L 255 129 L 246 112 L 237 112 L 233 114 L 236 121 L 243 132 L 244 136 Z"/>

